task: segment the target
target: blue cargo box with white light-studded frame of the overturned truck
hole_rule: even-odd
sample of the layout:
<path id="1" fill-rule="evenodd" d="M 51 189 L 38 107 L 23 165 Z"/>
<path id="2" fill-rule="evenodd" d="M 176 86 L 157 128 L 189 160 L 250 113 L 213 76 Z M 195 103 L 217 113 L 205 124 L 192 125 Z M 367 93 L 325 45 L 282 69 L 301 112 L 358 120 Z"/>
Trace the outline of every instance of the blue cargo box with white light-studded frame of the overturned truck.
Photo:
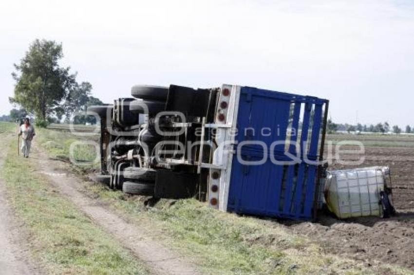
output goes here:
<path id="1" fill-rule="evenodd" d="M 215 123 L 205 125 L 217 128 L 218 145 L 212 164 L 201 165 L 210 170 L 209 205 L 311 219 L 328 100 L 246 86 L 221 91 Z"/>

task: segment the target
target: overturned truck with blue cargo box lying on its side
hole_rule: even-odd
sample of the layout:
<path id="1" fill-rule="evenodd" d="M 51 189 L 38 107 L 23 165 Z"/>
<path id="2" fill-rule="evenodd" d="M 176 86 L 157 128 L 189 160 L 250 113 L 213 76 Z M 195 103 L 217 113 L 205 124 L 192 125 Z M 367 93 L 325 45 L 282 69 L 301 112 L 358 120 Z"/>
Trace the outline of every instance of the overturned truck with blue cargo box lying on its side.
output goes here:
<path id="1" fill-rule="evenodd" d="M 88 108 L 101 121 L 98 177 L 111 188 L 316 216 L 328 100 L 235 85 L 133 86 L 131 95 Z"/>

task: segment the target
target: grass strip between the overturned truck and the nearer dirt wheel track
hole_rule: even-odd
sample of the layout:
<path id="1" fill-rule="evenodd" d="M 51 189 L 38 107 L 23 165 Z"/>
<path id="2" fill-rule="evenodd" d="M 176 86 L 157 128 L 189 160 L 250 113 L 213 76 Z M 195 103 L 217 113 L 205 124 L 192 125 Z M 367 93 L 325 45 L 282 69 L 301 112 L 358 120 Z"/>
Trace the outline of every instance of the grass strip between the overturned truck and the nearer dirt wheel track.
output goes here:
<path id="1" fill-rule="evenodd" d="M 73 138 L 66 135 L 56 132 L 47 137 L 54 142 Z M 144 197 L 91 183 L 85 183 L 85 189 L 146 228 L 156 240 L 177 249 L 205 274 L 410 274 L 395 266 L 366 266 L 329 254 L 283 226 L 222 213 L 195 200 L 161 200 L 147 207 Z"/>

